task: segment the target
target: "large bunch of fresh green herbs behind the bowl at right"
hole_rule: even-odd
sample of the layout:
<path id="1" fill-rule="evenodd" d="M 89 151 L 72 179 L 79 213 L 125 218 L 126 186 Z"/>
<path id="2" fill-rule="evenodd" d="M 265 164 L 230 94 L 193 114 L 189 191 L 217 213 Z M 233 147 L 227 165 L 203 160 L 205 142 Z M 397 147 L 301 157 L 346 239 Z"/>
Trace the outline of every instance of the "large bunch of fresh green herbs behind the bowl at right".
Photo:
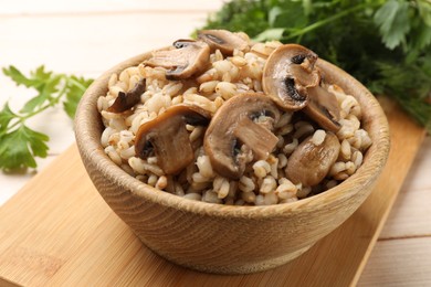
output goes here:
<path id="1" fill-rule="evenodd" d="M 429 0 L 233 0 L 204 29 L 308 46 L 431 131 Z"/>

